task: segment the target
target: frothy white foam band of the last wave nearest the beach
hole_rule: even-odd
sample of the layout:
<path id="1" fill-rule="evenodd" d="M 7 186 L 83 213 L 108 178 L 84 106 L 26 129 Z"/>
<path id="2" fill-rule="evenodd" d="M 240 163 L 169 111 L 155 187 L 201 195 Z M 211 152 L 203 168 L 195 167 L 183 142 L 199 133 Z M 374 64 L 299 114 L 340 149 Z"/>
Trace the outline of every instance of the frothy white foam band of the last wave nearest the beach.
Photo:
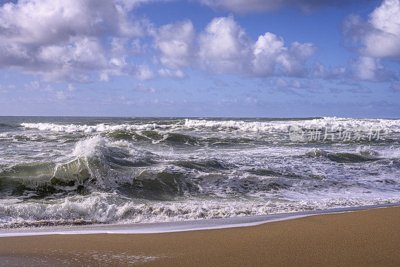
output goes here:
<path id="1" fill-rule="evenodd" d="M 92 220 L 103 223 L 154 223 L 198 219 L 240 217 L 271 213 L 354 207 L 399 202 L 399 198 L 331 197 L 291 202 L 205 201 L 158 202 L 138 204 L 128 201 L 118 204 L 117 195 L 95 194 L 70 196 L 55 203 L 21 202 L 13 205 L 0 203 L 0 223 L 15 224 L 38 220 Z M 124 199 L 126 201 L 126 199 Z M 119 201 L 121 203 L 122 201 Z"/>

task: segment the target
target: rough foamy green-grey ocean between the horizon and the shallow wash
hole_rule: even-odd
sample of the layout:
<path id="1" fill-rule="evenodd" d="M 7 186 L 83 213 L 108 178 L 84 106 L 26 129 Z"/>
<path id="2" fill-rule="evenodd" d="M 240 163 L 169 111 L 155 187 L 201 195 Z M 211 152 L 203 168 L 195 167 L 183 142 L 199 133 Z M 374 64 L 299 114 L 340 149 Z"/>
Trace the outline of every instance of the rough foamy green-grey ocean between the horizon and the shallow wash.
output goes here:
<path id="1" fill-rule="evenodd" d="M 0 117 L 0 228 L 400 201 L 400 120 Z"/>

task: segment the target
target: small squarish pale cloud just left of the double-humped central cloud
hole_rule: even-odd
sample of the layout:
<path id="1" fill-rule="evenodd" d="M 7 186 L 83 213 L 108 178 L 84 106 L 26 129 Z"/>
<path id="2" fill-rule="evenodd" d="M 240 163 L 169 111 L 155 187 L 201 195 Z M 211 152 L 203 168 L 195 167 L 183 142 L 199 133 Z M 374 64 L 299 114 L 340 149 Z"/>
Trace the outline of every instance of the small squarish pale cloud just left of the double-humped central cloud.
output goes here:
<path id="1" fill-rule="evenodd" d="M 195 30 L 190 21 L 161 26 L 154 35 L 154 47 L 160 51 L 163 65 L 177 69 L 191 64 Z"/>

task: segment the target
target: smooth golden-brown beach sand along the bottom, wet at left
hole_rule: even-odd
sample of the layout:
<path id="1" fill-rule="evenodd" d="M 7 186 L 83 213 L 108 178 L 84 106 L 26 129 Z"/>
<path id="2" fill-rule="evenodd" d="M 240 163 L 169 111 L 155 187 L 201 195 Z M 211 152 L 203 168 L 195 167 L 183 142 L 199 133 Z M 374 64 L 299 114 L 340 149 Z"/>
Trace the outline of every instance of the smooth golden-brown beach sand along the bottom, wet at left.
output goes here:
<path id="1" fill-rule="evenodd" d="M 0 237 L 11 265 L 400 265 L 400 207 L 151 234 Z"/>

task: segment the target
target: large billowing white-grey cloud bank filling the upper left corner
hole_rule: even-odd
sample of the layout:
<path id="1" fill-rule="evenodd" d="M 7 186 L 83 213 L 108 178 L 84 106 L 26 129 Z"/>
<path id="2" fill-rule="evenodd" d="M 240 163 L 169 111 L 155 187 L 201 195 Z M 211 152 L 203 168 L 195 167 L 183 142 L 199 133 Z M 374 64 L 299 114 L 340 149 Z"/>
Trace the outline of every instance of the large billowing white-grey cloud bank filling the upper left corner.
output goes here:
<path id="1" fill-rule="evenodd" d="M 123 51 L 115 55 L 103 39 L 142 34 L 140 23 L 112 0 L 6 3 L 0 6 L 0 68 L 70 82 L 91 82 L 89 73 L 97 71 L 107 80 L 127 74 L 129 66 L 116 64 L 115 58 L 123 62 Z"/>

